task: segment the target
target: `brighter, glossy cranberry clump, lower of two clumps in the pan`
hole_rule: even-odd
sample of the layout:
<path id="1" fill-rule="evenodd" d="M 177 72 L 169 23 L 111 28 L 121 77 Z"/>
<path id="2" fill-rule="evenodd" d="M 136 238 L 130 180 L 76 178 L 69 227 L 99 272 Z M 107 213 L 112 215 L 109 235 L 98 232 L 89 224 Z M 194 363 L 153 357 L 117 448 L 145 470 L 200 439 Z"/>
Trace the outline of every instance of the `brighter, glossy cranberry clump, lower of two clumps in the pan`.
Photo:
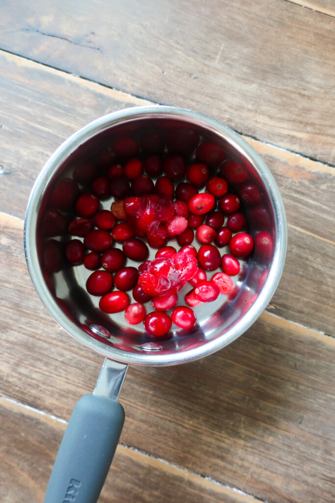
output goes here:
<path id="1" fill-rule="evenodd" d="M 146 261 L 139 267 L 138 284 L 147 295 L 177 293 L 197 272 L 195 257 L 176 253 L 171 258 L 160 257 Z"/>

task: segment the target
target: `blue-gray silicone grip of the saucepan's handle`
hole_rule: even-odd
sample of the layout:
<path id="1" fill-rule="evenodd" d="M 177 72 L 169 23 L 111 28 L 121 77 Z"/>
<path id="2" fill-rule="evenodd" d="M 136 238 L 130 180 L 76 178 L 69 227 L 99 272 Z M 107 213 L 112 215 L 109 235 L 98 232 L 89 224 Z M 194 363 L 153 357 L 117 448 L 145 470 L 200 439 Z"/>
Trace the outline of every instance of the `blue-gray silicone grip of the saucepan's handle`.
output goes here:
<path id="1" fill-rule="evenodd" d="M 44 503 L 96 503 L 124 421 L 119 402 L 93 394 L 80 398 L 65 430 Z"/>

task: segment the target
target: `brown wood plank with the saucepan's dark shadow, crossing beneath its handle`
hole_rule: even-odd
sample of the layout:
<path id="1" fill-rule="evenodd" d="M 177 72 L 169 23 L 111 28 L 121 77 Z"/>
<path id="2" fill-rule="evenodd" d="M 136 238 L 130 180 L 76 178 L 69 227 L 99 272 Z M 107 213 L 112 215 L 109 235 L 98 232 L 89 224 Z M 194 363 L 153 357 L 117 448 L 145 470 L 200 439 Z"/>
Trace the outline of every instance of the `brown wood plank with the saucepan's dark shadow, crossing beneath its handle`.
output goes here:
<path id="1" fill-rule="evenodd" d="M 25 268 L 20 221 L 9 226 L 12 220 L 3 225 L 0 250 L 1 263 L 11 261 L 10 275 L 0 269 L 0 390 L 68 419 L 91 391 L 101 358 L 69 338 L 42 306 Z M 265 315 L 203 360 L 132 367 L 121 396 L 122 443 L 262 500 L 330 503 L 335 346 L 312 333 Z"/>

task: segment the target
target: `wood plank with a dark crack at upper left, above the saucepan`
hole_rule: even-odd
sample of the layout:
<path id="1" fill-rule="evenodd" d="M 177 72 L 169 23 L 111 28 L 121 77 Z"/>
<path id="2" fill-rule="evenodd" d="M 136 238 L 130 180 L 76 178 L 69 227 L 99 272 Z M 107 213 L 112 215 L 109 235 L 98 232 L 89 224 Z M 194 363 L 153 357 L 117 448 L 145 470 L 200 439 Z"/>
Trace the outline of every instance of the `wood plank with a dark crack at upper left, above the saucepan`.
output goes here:
<path id="1" fill-rule="evenodd" d="M 283 0 L 5 0 L 0 48 L 335 164 L 334 26 Z"/>

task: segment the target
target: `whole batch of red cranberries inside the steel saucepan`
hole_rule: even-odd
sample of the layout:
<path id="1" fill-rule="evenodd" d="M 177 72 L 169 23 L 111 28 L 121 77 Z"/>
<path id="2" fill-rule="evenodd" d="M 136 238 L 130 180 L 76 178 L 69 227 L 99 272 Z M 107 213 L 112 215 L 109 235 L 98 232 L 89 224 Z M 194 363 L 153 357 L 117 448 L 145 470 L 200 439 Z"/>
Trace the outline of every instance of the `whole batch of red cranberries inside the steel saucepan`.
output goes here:
<path id="1" fill-rule="evenodd" d="M 195 162 L 189 162 L 177 153 L 140 158 L 134 140 L 118 141 L 101 156 L 100 176 L 88 162 L 76 167 L 74 180 L 63 179 L 56 185 L 51 195 L 56 210 L 49 211 L 45 225 L 64 226 L 57 210 L 74 206 L 76 217 L 67 224 L 72 238 L 65 245 L 65 258 L 92 271 L 86 289 L 100 297 L 103 312 L 124 311 L 127 323 L 143 322 L 155 337 L 164 336 L 172 322 L 190 329 L 196 322 L 193 308 L 230 294 L 232 276 L 240 272 L 239 259 L 253 251 L 248 222 L 232 184 L 245 184 L 249 198 L 260 195 L 255 186 L 248 189 L 245 167 L 225 160 L 224 150 L 213 143 L 200 144 Z M 122 161 L 125 157 L 131 158 Z M 84 186 L 82 194 L 78 183 Z M 114 199 L 110 209 L 101 209 L 101 202 L 110 196 Z M 169 244 L 172 239 L 179 250 Z M 226 246 L 229 253 L 221 254 L 220 248 Z M 157 249 L 151 261 L 149 248 Z M 127 266 L 128 259 L 138 266 Z M 186 283 L 192 289 L 181 295 Z M 186 305 L 177 306 L 181 297 Z M 151 312 L 147 312 L 149 303 Z"/>

